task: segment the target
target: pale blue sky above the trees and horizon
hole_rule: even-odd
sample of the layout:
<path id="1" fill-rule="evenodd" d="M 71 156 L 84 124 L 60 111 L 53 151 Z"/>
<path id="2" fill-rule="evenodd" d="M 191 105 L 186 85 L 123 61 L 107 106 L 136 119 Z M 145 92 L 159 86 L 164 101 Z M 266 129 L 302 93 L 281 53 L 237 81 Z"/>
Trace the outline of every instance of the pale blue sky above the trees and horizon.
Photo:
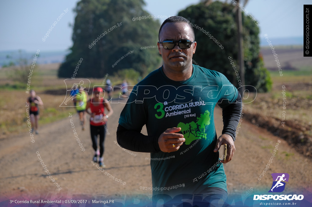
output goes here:
<path id="1" fill-rule="evenodd" d="M 224 0 L 222 0 L 224 1 Z M 0 51 L 56 51 L 72 46 L 72 28 L 77 0 L 10 0 L 0 2 Z M 199 0 L 145 0 L 145 10 L 152 15 L 173 16 Z M 231 2 L 231 0 L 228 0 Z M 309 0 L 249 0 L 246 9 L 260 23 L 260 36 L 270 38 L 303 36 L 303 5 Z M 59 15 L 68 12 L 57 22 L 46 41 L 42 37 Z M 164 19 L 160 19 L 163 22 Z"/>

